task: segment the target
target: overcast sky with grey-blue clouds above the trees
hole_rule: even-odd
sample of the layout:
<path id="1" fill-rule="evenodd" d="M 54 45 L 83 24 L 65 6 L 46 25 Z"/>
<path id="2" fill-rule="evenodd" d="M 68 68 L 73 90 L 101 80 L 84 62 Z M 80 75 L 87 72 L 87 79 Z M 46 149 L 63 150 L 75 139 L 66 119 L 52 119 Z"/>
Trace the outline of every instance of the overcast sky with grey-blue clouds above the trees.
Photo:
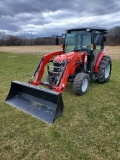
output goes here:
<path id="1" fill-rule="evenodd" d="M 60 35 L 81 26 L 120 26 L 120 0 L 0 0 L 0 32 Z"/>

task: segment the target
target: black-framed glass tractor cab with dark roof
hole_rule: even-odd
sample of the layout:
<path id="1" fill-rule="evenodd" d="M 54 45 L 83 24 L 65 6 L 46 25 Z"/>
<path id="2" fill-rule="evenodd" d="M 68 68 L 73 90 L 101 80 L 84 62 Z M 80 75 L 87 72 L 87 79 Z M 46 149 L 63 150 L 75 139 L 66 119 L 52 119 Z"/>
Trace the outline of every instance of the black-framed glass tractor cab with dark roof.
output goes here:
<path id="1" fill-rule="evenodd" d="M 77 28 L 66 31 L 63 51 L 70 52 L 86 51 L 88 55 L 87 71 L 92 73 L 93 65 L 98 58 L 99 53 L 104 49 L 106 34 L 105 28 Z"/>

